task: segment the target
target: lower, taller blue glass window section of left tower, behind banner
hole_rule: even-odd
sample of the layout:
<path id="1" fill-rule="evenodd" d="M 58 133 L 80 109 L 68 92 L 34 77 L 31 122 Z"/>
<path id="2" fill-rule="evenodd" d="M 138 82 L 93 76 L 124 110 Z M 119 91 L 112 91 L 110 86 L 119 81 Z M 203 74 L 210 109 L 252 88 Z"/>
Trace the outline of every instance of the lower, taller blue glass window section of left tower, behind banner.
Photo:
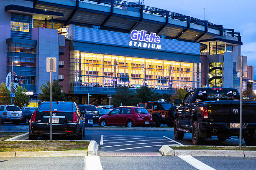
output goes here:
<path id="1" fill-rule="evenodd" d="M 7 72 L 13 70 L 18 75 L 19 84 L 28 91 L 36 92 L 36 45 L 7 43 Z"/>

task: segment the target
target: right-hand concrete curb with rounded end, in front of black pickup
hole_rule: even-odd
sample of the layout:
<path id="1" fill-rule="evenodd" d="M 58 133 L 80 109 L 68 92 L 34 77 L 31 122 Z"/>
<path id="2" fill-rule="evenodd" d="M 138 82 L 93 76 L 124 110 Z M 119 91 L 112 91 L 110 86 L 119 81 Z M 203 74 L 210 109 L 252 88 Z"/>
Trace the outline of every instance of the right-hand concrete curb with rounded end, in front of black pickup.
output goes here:
<path id="1" fill-rule="evenodd" d="M 256 157 L 256 151 L 248 150 L 173 150 L 168 145 L 163 145 L 159 151 L 164 156 L 225 156 L 225 157 Z"/>

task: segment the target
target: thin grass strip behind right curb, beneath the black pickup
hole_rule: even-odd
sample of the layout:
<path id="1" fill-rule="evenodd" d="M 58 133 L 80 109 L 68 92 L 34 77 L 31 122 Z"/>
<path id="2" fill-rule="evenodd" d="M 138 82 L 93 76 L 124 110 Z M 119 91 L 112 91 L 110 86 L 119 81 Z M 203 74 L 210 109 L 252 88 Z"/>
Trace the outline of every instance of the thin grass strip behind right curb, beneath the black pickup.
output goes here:
<path id="1" fill-rule="evenodd" d="M 218 146 L 169 146 L 173 150 L 256 150 L 256 147 L 238 146 L 218 147 Z"/>

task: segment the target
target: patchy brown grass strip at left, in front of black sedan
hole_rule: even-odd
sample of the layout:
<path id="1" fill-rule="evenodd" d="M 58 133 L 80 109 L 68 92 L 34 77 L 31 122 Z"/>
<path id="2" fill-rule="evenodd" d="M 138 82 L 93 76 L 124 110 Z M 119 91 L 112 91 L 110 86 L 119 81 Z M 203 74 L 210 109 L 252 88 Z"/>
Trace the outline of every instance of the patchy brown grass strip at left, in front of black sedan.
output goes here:
<path id="1" fill-rule="evenodd" d="M 87 150 L 90 142 L 82 141 L 0 141 L 0 152 Z"/>

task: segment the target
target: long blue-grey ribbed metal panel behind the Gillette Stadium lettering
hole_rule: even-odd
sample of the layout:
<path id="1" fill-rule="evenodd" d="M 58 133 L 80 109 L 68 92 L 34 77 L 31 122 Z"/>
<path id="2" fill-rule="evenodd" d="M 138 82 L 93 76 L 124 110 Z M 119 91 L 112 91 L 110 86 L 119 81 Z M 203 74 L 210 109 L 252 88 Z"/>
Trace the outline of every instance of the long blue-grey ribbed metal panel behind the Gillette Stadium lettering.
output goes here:
<path id="1" fill-rule="evenodd" d="M 73 30 L 72 30 L 73 29 Z M 150 32 L 148 32 L 150 33 Z M 74 37 L 73 37 L 74 35 Z M 191 55 L 200 55 L 200 44 L 192 42 L 184 42 L 177 40 L 161 39 L 159 45 L 161 50 L 152 48 L 134 47 L 129 46 L 129 42 L 133 41 L 130 38 L 130 34 L 122 32 L 112 32 L 106 30 L 97 30 L 92 28 L 84 28 L 73 26 L 68 28 L 68 36 L 70 39 L 88 43 L 102 44 L 102 45 L 113 45 L 119 47 L 128 47 L 133 49 L 146 49 L 147 51 L 163 51 L 163 52 L 175 52 Z M 138 43 L 141 41 L 137 41 Z M 144 42 L 141 42 L 142 44 Z M 151 43 L 152 44 L 152 43 Z"/>

